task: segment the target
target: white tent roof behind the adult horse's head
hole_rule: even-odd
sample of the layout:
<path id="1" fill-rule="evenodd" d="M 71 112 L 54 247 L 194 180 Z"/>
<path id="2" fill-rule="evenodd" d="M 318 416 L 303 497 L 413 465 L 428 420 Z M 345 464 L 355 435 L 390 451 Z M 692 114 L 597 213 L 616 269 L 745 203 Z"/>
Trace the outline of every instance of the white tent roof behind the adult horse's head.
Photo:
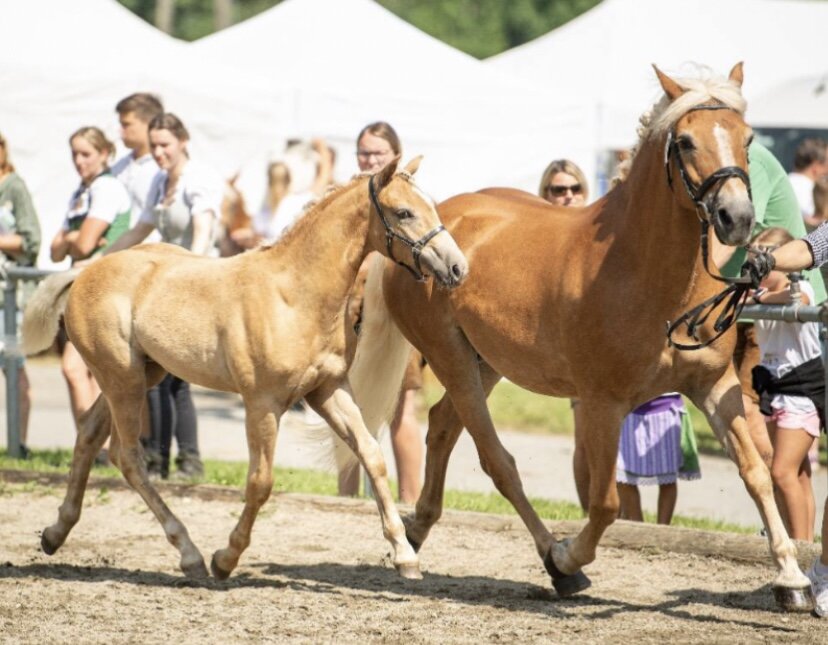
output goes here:
<path id="1" fill-rule="evenodd" d="M 582 101 L 595 117 L 595 148 L 635 141 L 638 116 L 659 96 L 651 63 L 693 75 L 687 62 L 726 74 L 744 61 L 751 100 L 825 67 L 828 2 L 604 0 L 566 25 L 486 64 Z"/>

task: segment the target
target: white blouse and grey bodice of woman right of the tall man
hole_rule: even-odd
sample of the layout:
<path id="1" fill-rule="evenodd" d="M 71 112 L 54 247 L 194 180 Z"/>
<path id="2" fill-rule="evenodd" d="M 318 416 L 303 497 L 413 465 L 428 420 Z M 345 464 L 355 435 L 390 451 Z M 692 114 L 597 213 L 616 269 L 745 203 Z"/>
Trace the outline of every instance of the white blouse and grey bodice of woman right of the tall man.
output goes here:
<path id="1" fill-rule="evenodd" d="M 193 215 L 209 211 L 215 225 L 221 212 L 223 187 L 224 182 L 210 168 L 188 161 L 178 178 L 172 202 L 163 204 L 167 171 L 159 170 L 152 180 L 139 221 L 158 229 L 164 242 L 190 248 Z"/>

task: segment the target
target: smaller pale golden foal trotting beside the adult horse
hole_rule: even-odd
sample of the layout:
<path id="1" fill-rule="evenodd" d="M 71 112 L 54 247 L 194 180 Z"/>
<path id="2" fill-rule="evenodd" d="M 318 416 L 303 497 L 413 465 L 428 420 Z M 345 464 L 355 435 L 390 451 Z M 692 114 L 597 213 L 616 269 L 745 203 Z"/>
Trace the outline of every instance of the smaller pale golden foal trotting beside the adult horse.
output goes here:
<path id="1" fill-rule="evenodd" d="M 249 545 L 272 488 L 278 420 L 304 397 L 358 453 L 371 477 L 394 565 L 403 576 L 420 577 L 385 463 L 353 401 L 346 371 L 355 346 L 346 302 L 367 253 L 387 253 L 417 277 L 431 275 L 447 287 L 466 275 L 463 254 L 449 234 L 440 234 L 433 201 L 414 184 L 418 165 L 419 158 L 396 172 L 395 161 L 376 175 L 354 178 L 272 247 L 208 259 L 174 246 L 144 245 L 94 262 L 74 284 L 72 273 L 44 282 L 26 310 L 25 349 L 52 342 L 65 306 L 66 331 L 103 391 L 78 434 L 58 521 L 43 532 L 46 553 L 54 553 L 78 521 L 92 460 L 112 431 L 110 456 L 180 551 L 181 569 L 207 575 L 186 528 L 148 480 L 139 444 L 147 387 L 170 372 L 239 392 L 246 409 L 244 511 L 228 547 L 213 555 L 213 575 L 226 578 Z"/>

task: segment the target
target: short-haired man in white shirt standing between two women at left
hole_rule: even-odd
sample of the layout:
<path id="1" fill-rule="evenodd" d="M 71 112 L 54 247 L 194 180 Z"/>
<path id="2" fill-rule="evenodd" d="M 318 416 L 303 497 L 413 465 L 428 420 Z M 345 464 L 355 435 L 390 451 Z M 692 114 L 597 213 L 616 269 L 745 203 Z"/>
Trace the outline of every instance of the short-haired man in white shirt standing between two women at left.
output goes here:
<path id="1" fill-rule="evenodd" d="M 150 121 L 164 111 L 164 106 L 158 97 L 138 92 L 119 101 L 115 111 L 121 123 L 121 140 L 129 153 L 118 159 L 110 171 L 126 186 L 132 200 L 131 228 L 147 205 L 153 177 L 158 173 L 158 164 L 150 154 L 148 128 Z M 160 239 L 157 233 L 153 235 L 146 241 L 157 242 Z"/>

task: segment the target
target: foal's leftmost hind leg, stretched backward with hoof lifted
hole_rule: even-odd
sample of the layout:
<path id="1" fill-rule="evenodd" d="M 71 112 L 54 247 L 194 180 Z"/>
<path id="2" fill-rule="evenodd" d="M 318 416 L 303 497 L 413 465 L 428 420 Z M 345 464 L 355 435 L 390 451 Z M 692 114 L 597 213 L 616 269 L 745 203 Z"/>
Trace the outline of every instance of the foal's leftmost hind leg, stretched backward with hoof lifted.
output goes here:
<path id="1" fill-rule="evenodd" d="M 49 555 L 60 548 L 66 541 L 69 531 L 80 519 L 89 471 L 95 461 L 95 456 L 110 435 L 111 428 L 112 416 L 109 412 L 109 404 L 104 396 L 100 395 L 80 419 L 68 487 L 63 504 L 58 509 L 58 521 L 44 529 L 40 538 L 43 551 Z"/>

